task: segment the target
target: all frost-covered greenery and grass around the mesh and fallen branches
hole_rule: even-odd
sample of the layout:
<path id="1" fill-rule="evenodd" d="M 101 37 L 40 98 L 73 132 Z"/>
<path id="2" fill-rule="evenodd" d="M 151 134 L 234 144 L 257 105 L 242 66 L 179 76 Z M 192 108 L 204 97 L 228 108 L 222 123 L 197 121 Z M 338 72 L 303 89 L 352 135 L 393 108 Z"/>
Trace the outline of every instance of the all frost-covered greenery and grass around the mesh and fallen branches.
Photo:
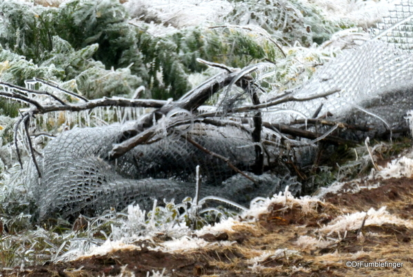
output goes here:
<path id="1" fill-rule="evenodd" d="M 51 88 L 44 82 L 28 81 L 38 78 L 88 99 L 123 96 L 176 100 L 216 73 L 216 69 L 197 62 L 202 58 L 235 68 L 256 63 L 272 65 L 271 79 L 263 83 L 272 91 L 267 96 L 270 99 L 301 85 L 343 48 L 365 41 L 368 35 L 364 30 L 379 21 L 388 5 L 385 1 L 349 4 L 299 0 L 121 2 L 50 1 L 49 6 L 48 1 L 34 1 L 44 5 L 1 1 L 1 82 L 32 89 Z M 68 102 L 81 101 L 65 97 Z M 175 250 L 177 244 L 198 247 L 205 241 L 192 238 L 191 228 L 201 229 L 220 219 L 224 225 L 232 224 L 231 219 L 224 219 L 234 216 L 234 210 L 211 208 L 200 212 L 189 198 L 183 203 L 166 201 L 164 206 L 154 203 L 148 214 L 139 206 L 129 206 L 128 210 L 109 210 L 96 218 L 80 217 L 73 224 L 56 219 L 50 225 L 35 225 L 30 214 L 34 203 L 26 195 L 27 188 L 19 179 L 13 179 L 19 171 L 12 148 L 13 124 L 19 109 L 25 108 L 24 104 L 0 99 L 0 267 L 74 258 L 91 250 L 96 252 L 100 245 L 108 247 L 113 241 L 145 241 L 163 250 Z M 100 126 L 122 121 L 122 112 L 105 109 L 73 115 L 70 120 L 72 115 L 66 113 L 39 115 L 37 124 L 47 134 L 41 135 L 37 143 L 43 144 L 49 135 L 82 123 Z M 130 118 L 136 117 L 131 112 Z M 357 150 L 364 156 L 351 166 L 355 164 L 357 170 L 362 170 L 370 156 L 365 148 Z M 319 182 L 353 173 L 341 171 L 331 176 L 327 170 L 325 179 L 321 176 Z M 281 199 L 299 201 L 308 209 L 318 203 L 310 198 L 296 200 L 285 192 L 272 200 L 256 200 L 245 217 L 258 217 L 270 203 Z M 377 217 L 385 214 L 384 210 L 369 212 Z M 354 217 L 359 220 L 362 215 Z M 343 217 L 337 224 L 350 219 Z M 154 243 L 157 237 L 180 241 L 159 246 Z"/>

